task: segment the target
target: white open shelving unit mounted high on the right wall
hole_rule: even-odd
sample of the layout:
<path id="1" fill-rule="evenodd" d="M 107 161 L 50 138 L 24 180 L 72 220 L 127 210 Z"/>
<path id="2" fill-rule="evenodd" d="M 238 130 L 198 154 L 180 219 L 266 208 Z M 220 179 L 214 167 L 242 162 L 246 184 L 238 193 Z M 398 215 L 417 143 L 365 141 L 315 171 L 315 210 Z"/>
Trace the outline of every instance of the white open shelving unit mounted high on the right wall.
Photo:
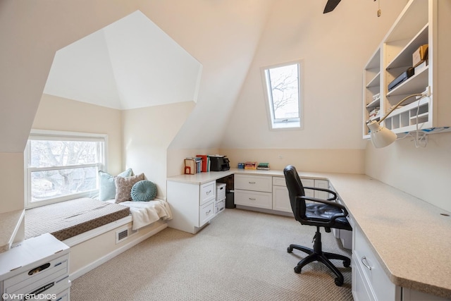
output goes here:
<path id="1" fill-rule="evenodd" d="M 408 99 L 385 118 L 385 127 L 398 135 L 417 128 L 427 133 L 451 130 L 451 119 L 447 117 L 451 109 L 451 85 L 446 80 L 451 66 L 448 54 L 451 35 L 447 32 L 451 26 L 450 14 L 450 1 L 411 0 L 407 3 L 364 67 L 364 138 L 369 138 L 366 121 L 379 120 L 404 97 L 426 89 L 430 89 L 430 97 Z M 412 67 L 412 54 L 424 44 L 428 44 L 428 66 L 416 70 L 411 78 L 388 91 L 390 82 Z M 376 94 L 380 99 L 373 100 Z M 370 112 L 377 106 L 380 113 L 371 117 Z"/>

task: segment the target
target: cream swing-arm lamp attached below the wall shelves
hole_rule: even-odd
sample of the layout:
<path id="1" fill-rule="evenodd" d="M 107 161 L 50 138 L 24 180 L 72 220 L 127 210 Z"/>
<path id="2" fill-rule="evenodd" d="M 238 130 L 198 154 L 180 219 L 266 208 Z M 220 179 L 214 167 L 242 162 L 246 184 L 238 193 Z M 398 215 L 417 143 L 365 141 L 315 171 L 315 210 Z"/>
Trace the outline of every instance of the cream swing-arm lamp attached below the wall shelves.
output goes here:
<path id="1" fill-rule="evenodd" d="M 395 111 L 395 109 L 398 106 L 400 106 L 403 102 L 405 102 L 407 99 L 409 99 L 411 97 L 417 97 L 417 99 L 421 99 L 423 97 L 429 97 L 429 96 L 431 96 L 430 87 L 428 87 L 426 89 L 426 91 L 424 91 L 423 93 L 412 94 L 412 95 L 409 95 L 409 96 L 405 97 L 404 99 L 402 99 L 395 106 L 393 106 L 393 108 L 385 116 L 383 116 L 383 118 L 381 118 L 380 121 L 375 121 L 375 120 L 366 121 L 366 126 L 370 130 L 371 142 L 373 142 L 374 147 L 376 147 L 376 148 L 386 147 L 386 146 L 392 144 L 397 138 L 397 135 L 395 133 L 393 133 L 391 130 L 389 130 L 388 128 L 385 128 L 381 125 L 382 121 L 384 121 L 384 119 L 387 118 L 388 115 L 390 115 L 390 113 Z"/>

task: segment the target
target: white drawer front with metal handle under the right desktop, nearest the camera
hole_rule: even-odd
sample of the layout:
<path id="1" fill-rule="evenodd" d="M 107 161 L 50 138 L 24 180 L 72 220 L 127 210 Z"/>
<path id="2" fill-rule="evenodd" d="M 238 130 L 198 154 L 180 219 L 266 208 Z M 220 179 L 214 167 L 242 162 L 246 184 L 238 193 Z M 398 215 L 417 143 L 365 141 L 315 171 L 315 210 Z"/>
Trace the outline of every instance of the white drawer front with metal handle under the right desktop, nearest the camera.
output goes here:
<path id="1" fill-rule="evenodd" d="M 358 226 L 354 228 L 354 235 L 355 240 L 352 257 L 354 258 L 354 263 L 357 264 L 359 270 L 362 272 L 361 277 L 364 279 L 367 290 L 373 296 L 369 299 L 395 300 L 396 285 L 385 274 L 385 271 Z"/>

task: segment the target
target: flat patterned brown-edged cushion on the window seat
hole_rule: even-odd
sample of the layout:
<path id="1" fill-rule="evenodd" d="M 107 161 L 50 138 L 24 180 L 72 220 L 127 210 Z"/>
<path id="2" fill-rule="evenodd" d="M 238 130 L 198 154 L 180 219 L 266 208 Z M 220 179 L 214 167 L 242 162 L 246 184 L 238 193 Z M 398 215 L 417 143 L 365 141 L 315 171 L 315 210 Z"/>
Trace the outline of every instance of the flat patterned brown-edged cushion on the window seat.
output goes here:
<path id="1" fill-rule="evenodd" d="M 66 240 L 130 215 L 130 208 L 83 197 L 25 210 L 25 239 L 51 233 Z"/>

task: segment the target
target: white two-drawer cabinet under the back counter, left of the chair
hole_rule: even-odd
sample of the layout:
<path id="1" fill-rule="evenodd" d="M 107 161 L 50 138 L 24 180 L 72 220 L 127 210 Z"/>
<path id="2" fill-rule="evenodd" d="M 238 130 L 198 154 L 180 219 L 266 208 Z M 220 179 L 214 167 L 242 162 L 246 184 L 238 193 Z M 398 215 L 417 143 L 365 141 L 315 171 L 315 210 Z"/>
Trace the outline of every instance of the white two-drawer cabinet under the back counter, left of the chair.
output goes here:
<path id="1" fill-rule="evenodd" d="M 271 176 L 235 174 L 235 204 L 273 209 Z"/>

